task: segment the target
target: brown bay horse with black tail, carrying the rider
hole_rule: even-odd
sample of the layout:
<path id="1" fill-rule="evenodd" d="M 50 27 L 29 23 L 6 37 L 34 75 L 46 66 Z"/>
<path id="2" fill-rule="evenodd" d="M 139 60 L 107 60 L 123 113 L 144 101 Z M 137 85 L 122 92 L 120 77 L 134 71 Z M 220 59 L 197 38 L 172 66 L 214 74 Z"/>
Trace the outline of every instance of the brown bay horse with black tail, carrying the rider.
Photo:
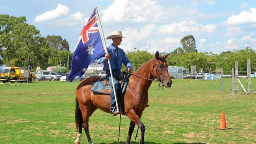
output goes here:
<path id="1" fill-rule="evenodd" d="M 153 78 L 161 79 L 165 87 L 171 87 L 173 83 L 167 70 L 166 57 L 167 55 L 159 56 L 156 52 L 155 57 L 150 59 L 138 68 L 134 74 L 131 75 L 129 83 L 124 95 L 124 113 L 131 119 L 128 137 L 126 144 L 130 144 L 132 132 L 134 131 L 135 124 L 141 129 L 140 143 L 144 144 L 145 126 L 140 118 L 148 104 L 148 89 L 152 83 Z M 101 109 L 106 113 L 110 113 L 110 96 L 98 94 L 91 91 L 91 86 L 98 77 L 91 77 L 83 80 L 76 87 L 76 129 L 78 130 L 77 139 L 75 144 L 80 143 L 82 135 L 82 127 L 85 130 L 89 144 L 92 144 L 89 135 L 89 117 L 96 109 Z"/>

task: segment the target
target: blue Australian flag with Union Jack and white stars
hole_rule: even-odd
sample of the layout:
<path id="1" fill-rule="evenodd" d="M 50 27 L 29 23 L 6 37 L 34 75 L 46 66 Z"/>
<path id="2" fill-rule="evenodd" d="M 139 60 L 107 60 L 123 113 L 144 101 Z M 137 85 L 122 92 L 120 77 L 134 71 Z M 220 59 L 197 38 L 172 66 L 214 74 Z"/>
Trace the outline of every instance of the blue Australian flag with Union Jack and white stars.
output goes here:
<path id="1" fill-rule="evenodd" d="M 72 82 L 76 76 L 82 76 L 88 66 L 104 53 L 96 9 L 94 9 L 80 33 L 71 61 L 71 70 L 66 79 Z"/>

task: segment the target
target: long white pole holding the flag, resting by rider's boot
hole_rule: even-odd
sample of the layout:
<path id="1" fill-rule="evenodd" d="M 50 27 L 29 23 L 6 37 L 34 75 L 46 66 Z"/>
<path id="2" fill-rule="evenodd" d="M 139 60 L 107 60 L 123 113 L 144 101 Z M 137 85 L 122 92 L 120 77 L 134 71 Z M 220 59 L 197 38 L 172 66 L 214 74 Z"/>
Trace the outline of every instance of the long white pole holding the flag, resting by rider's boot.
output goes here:
<path id="1" fill-rule="evenodd" d="M 104 50 L 105 50 L 106 54 L 108 54 L 108 50 L 107 50 L 107 45 L 106 45 L 103 29 L 102 29 L 102 26 L 101 26 L 101 23 L 100 23 L 100 16 L 98 14 L 98 9 L 97 9 L 97 7 L 95 7 L 95 9 L 96 9 L 98 25 L 100 27 L 100 35 L 101 35 L 101 40 L 102 40 L 102 43 L 103 43 L 103 47 L 104 47 Z M 117 107 L 117 112 L 119 112 L 119 107 L 118 107 L 118 104 L 117 104 L 117 94 L 115 92 L 115 83 L 114 83 L 114 80 L 113 80 L 113 74 L 112 74 L 112 69 L 111 69 L 111 65 L 110 65 L 110 60 L 109 59 L 108 59 L 108 66 L 109 66 L 109 72 L 110 72 L 110 75 L 111 75 L 111 81 L 112 81 L 112 84 L 113 84 L 113 90 L 114 90 L 114 95 L 115 95 L 115 105 Z"/>

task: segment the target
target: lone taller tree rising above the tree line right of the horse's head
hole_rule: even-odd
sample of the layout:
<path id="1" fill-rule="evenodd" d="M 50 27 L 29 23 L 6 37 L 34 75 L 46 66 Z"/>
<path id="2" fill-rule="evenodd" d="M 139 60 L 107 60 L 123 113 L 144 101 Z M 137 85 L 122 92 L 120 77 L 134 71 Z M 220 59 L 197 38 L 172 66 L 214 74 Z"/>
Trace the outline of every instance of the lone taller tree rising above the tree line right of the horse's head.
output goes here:
<path id="1" fill-rule="evenodd" d="M 187 35 L 186 37 L 183 37 L 180 41 L 180 44 L 182 44 L 184 52 L 197 52 L 197 44 L 193 35 Z"/>

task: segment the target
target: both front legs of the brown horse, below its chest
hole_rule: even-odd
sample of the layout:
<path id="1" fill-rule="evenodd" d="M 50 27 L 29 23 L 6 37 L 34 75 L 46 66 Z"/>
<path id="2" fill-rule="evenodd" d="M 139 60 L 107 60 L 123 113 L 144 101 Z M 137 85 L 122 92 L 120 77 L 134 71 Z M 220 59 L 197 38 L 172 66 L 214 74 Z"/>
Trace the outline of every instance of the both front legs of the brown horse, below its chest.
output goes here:
<path id="1" fill-rule="evenodd" d="M 139 126 L 139 128 L 141 129 L 140 144 L 144 144 L 145 126 L 144 126 L 144 124 L 140 120 L 141 115 L 142 115 L 142 112 L 137 114 L 134 109 L 130 109 L 130 111 L 128 111 L 128 113 L 127 113 L 127 116 L 132 120 L 132 122 L 137 124 Z M 126 144 L 130 144 L 130 140 L 131 139 L 129 138 L 129 136 L 130 137 L 132 136 L 132 132 L 134 130 L 134 126 L 132 127 L 131 124 L 130 124 L 130 128 L 129 128 L 129 133 L 128 133 L 128 138 L 126 140 Z M 130 133 L 130 131 L 132 131 L 132 132 Z"/>

